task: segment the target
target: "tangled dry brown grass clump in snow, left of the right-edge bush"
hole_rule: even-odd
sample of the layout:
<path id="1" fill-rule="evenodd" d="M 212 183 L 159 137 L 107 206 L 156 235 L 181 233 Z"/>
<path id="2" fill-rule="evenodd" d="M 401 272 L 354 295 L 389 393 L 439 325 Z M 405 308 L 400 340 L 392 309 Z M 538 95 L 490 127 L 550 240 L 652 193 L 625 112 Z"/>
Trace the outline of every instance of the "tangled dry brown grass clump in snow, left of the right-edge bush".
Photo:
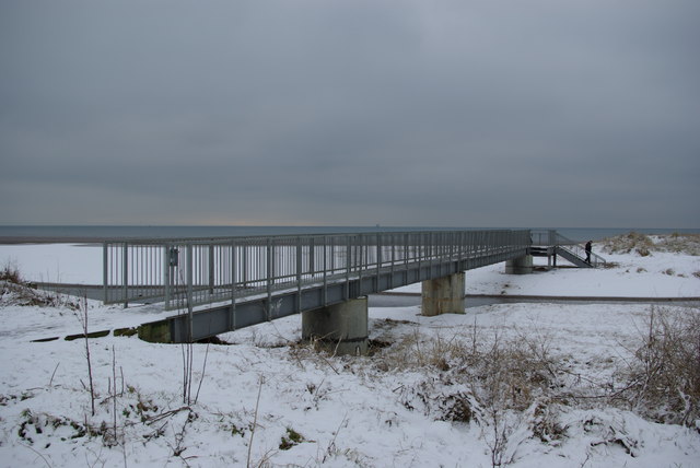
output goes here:
<path id="1" fill-rule="evenodd" d="M 438 420 L 478 423 L 494 467 L 511 460 L 510 437 L 523 421 L 548 443 L 564 435 L 549 397 L 559 372 L 547 338 L 506 337 L 500 329 L 487 336 L 476 326 L 450 338 L 415 330 L 373 363 L 380 371 L 424 374 L 397 389 L 401 403 Z"/>

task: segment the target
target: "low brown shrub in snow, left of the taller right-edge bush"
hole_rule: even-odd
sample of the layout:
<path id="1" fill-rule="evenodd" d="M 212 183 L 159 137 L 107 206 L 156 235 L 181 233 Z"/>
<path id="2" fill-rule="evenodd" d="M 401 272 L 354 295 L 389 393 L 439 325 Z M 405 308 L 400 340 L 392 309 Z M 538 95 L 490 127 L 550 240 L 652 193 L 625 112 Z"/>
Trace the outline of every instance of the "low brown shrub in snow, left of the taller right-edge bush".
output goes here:
<path id="1" fill-rule="evenodd" d="M 545 338 L 491 339 L 457 335 L 451 339 L 418 334 L 383 350 L 378 368 L 423 370 L 429 377 L 405 388 L 402 403 L 423 407 L 443 421 L 477 420 L 501 425 L 508 411 L 524 411 L 557 387 L 558 360 Z"/>

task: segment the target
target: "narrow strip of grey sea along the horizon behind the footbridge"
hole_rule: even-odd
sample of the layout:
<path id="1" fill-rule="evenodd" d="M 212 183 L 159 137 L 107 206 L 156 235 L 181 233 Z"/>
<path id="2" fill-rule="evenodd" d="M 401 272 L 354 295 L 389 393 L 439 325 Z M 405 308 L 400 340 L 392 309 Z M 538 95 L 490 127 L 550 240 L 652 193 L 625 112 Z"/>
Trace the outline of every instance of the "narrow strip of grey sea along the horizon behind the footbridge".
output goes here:
<path id="1" fill-rule="evenodd" d="M 345 234 L 370 232 L 412 231 L 480 231 L 480 230 L 555 230 L 572 241 L 600 241 L 629 232 L 642 234 L 700 234 L 700 229 L 674 227 L 435 227 L 435 226 L 164 226 L 164 225 L 0 225 L 0 244 L 9 242 L 48 242 L 70 239 L 70 242 L 96 239 L 164 239 L 164 238 L 212 238 L 268 235 Z"/>

